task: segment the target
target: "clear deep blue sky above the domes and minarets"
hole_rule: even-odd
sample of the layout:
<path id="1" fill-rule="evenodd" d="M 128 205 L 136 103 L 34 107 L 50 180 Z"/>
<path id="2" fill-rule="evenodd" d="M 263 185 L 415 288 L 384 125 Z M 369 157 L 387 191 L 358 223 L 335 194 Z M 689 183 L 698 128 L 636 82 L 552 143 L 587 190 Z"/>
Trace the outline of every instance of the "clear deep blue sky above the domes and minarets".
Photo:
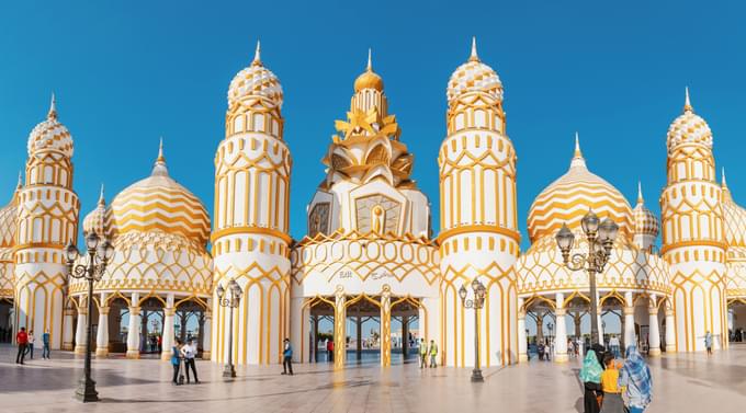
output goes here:
<path id="1" fill-rule="evenodd" d="M 746 200 L 743 2 L 264 3 L 0 5 L 0 197 L 10 198 L 29 131 L 55 91 L 76 144 L 83 214 L 101 182 L 111 199 L 149 173 L 161 135 L 171 175 L 212 211 L 226 91 L 260 38 L 262 60 L 285 91 L 292 236 L 305 233 L 305 206 L 324 176 L 319 160 L 369 47 L 437 217 L 445 84 L 476 35 L 479 56 L 505 85 L 524 238 L 531 202 L 567 170 L 575 130 L 591 171 L 632 205 L 642 179 L 657 211 L 666 130 L 685 85 L 714 131 L 717 167 L 727 168 L 736 200 Z M 433 225 L 437 232 L 437 218 Z"/>

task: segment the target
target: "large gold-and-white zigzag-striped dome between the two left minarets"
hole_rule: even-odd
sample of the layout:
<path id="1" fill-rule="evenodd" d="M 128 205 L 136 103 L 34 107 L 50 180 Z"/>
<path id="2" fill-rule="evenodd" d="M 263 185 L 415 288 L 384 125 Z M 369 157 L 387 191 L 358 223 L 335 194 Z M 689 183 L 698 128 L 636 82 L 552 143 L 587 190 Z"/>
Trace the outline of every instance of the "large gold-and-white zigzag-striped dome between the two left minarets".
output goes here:
<path id="1" fill-rule="evenodd" d="M 150 176 L 116 195 L 110 209 L 108 231 L 114 239 L 126 232 L 166 232 L 204 246 L 210 238 L 204 205 L 169 176 L 162 140 Z"/>

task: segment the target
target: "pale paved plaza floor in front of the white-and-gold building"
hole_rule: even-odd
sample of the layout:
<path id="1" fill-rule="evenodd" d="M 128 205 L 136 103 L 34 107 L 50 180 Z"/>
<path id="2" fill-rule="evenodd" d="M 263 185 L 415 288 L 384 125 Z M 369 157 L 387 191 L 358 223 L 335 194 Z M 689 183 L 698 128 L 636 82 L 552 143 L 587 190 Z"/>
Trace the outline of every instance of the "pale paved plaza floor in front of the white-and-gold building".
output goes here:
<path id="1" fill-rule="evenodd" d="M 37 352 L 41 355 L 41 352 Z M 420 370 L 415 363 L 386 370 L 374 363 L 334 372 L 328 364 L 238 368 L 224 382 L 221 366 L 199 362 L 204 383 L 173 387 L 171 366 L 156 359 L 108 358 L 93 364 L 102 401 L 72 399 L 82 359 L 53 354 L 24 367 L 0 347 L 0 412 L 580 412 L 578 362 L 532 362 L 485 371 L 473 385 L 467 369 Z M 654 401 L 648 412 L 738 412 L 746 406 L 746 346 L 708 358 L 664 356 L 652 363 Z"/>

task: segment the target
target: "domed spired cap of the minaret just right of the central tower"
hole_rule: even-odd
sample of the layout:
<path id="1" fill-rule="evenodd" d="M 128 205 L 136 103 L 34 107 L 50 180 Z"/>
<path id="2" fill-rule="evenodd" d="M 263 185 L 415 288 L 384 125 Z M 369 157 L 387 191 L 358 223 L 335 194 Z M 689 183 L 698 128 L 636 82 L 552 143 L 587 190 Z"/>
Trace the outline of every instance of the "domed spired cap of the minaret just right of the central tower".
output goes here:
<path id="1" fill-rule="evenodd" d="M 468 60 L 459 66 L 451 74 L 445 95 L 451 102 L 462 94 L 482 92 L 496 101 L 502 101 L 502 83 L 497 72 L 483 64 L 476 54 L 476 38 L 472 38 L 472 55 Z"/>

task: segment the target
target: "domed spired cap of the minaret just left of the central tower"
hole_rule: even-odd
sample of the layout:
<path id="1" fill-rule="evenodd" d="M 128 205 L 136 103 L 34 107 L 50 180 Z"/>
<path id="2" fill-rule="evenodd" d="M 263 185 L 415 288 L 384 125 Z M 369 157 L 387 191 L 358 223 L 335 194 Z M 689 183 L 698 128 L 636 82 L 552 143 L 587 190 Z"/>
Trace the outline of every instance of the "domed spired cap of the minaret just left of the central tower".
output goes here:
<path id="1" fill-rule="evenodd" d="M 249 96 L 262 96 L 275 106 L 282 107 L 282 85 L 274 73 L 261 62 L 261 48 L 257 42 L 253 61 L 230 81 L 228 88 L 228 106 L 233 106 Z"/>

